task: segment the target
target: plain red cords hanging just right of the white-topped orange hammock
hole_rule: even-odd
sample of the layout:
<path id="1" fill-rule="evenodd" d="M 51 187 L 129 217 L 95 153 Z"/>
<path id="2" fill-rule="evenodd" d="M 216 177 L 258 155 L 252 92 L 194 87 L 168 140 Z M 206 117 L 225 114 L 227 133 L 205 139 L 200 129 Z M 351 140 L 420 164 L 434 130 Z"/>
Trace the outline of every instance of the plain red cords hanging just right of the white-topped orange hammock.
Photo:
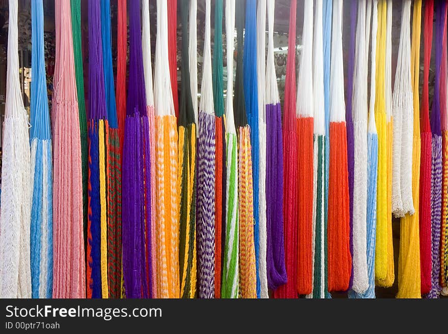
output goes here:
<path id="1" fill-rule="evenodd" d="M 174 111 L 179 117 L 179 100 L 177 90 L 177 0 L 167 0 L 168 6 L 168 62 L 170 64 L 171 92 Z"/>

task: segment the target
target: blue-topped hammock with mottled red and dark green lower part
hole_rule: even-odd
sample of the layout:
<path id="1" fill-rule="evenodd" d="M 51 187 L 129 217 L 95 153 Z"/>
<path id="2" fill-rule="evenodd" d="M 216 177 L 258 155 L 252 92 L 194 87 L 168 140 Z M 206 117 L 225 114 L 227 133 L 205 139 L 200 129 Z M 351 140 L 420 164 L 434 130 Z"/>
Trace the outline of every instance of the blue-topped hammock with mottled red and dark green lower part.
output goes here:
<path id="1" fill-rule="evenodd" d="M 106 134 L 107 184 L 107 284 L 109 298 L 121 293 L 121 152 L 115 101 L 114 72 L 110 31 L 110 0 L 101 0 L 101 36 L 104 90 L 109 131 Z"/>

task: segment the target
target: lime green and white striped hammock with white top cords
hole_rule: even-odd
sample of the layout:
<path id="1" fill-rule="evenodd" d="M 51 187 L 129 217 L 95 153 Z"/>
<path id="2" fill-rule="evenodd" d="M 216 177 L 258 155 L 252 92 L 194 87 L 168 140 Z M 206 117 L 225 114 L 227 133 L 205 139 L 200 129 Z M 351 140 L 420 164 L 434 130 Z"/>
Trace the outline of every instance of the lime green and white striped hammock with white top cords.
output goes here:
<path id="1" fill-rule="evenodd" d="M 233 51 L 235 0 L 226 1 L 226 222 L 222 261 L 221 298 L 238 298 L 238 157 L 233 115 Z"/>

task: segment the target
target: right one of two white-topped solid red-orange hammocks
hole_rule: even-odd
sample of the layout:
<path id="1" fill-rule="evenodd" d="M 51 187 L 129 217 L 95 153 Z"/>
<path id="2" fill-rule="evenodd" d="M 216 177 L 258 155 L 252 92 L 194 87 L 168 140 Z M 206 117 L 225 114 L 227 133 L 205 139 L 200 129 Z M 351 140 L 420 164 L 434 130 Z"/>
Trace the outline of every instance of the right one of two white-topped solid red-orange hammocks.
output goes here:
<path id="1" fill-rule="evenodd" d="M 344 68 L 342 57 L 342 0 L 333 6 L 330 79 L 330 169 L 328 189 L 328 290 L 347 290 L 350 256 L 350 203 L 347 170 Z"/>

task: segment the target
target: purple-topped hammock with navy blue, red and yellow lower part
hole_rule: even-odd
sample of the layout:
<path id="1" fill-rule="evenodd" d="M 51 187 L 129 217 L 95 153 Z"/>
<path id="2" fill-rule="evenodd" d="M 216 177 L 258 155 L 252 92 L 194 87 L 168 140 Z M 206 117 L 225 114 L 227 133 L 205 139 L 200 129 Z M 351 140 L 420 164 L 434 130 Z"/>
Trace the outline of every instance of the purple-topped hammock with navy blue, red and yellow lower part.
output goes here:
<path id="1" fill-rule="evenodd" d="M 89 217 L 87 297 L 108 298 L 106 155 L 109 130 L 104 91 L 100 2 L 89 2 Z"/>

